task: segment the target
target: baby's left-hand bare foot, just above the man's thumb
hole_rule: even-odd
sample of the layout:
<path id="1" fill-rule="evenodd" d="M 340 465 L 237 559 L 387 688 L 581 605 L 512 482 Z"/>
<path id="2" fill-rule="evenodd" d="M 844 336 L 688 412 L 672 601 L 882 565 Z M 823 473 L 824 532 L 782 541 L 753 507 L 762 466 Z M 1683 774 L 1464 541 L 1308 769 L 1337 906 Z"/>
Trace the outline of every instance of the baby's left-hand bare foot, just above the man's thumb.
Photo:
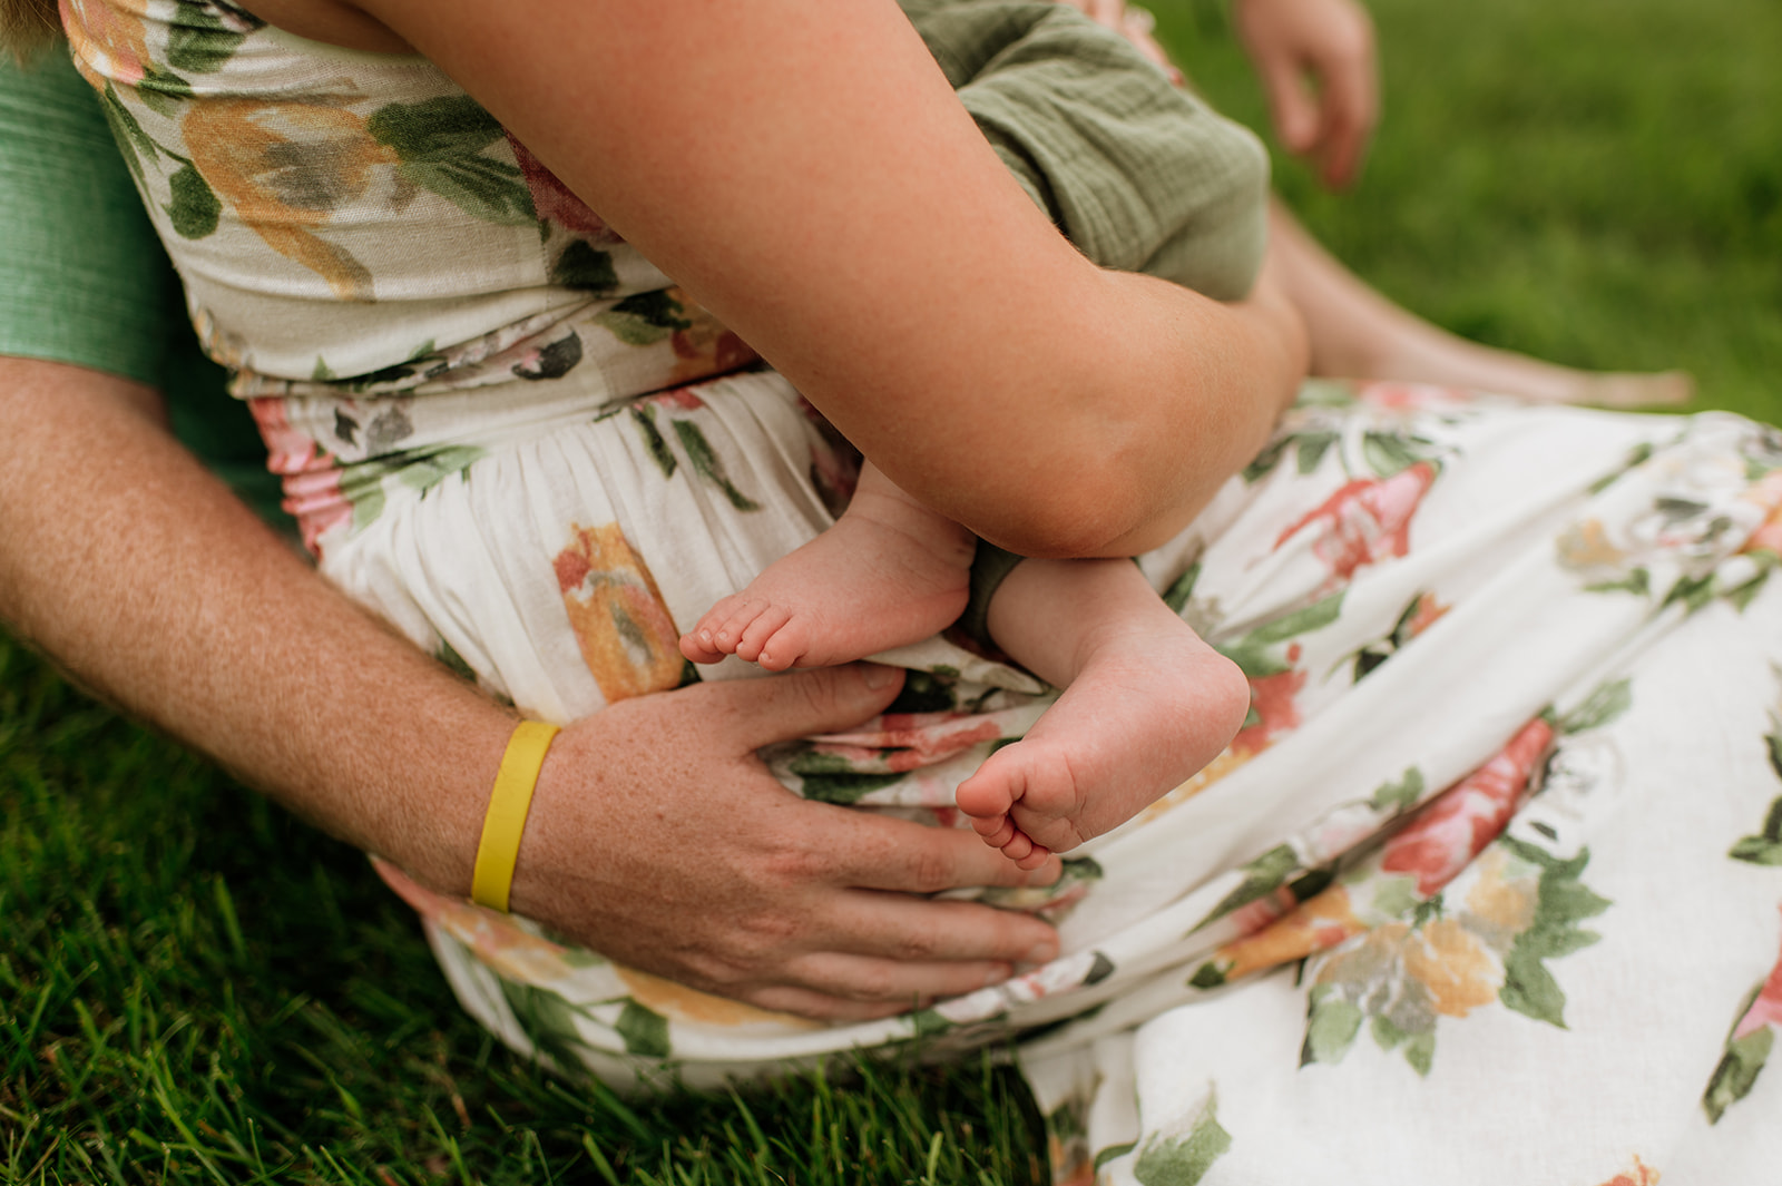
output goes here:
<path id="1" fill-rule="evenodd" d="M 969 531 L 866 463 L 836 525 L 706 611 L 681 654 L 784 671 L 916 643 L 966 607 L 975 550 Z"/>

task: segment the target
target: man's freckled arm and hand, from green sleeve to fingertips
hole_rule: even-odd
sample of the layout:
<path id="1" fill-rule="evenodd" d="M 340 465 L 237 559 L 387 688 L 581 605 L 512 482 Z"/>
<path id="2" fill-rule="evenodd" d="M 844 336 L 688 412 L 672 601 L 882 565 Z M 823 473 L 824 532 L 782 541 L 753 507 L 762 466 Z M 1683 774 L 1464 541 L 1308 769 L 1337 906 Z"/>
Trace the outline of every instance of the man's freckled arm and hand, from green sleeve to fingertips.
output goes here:
<path id="1" fill-rule="evenodd" d="M 166 433 L 150 388 L 0 358 L 0 620 L 333 835 L 467 892 L 513 718 L 328 586 Z M 1050 954 L 1034 919 L 884 892 L 1021 880 L 975 837 L 805 803 L 754 757 L 895 693 L 846 668 L 572 725 L 515 906 L 636 967 L 820 1017 L 898 1011 Z"/>

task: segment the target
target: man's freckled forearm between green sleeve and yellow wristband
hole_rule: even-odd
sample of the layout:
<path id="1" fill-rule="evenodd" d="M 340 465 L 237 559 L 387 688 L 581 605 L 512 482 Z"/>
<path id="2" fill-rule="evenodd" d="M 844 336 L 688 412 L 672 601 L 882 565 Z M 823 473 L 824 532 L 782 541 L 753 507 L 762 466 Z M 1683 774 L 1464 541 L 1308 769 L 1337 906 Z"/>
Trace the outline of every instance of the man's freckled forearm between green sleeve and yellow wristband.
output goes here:
<path id="1" fill-rule="evenodd" d="M 0 620 L 328 832 L 462 892 L 511 718 L 324 584 L 153 401 L 0 358 Z"/>

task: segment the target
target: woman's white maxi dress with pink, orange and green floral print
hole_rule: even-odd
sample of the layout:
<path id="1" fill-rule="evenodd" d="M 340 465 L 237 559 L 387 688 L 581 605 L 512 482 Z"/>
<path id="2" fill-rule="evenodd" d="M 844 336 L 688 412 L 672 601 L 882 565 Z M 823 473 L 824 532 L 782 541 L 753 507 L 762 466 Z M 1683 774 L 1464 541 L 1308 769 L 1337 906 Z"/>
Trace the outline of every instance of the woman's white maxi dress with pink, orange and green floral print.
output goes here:
<path id="1" fill-rule="evenodd" d="M 845 500 L 797 392 L 424 62 L 219 0 L 64 21 L 323 572 L 490 695 L 567 721 L 695 678 L 679 627 Z M 1778 563 L 1770 427 L 1312 383 L 1140 557 L 1249 677 L 1242 732 L 1057 887 L 980 894 L 1055 921 L 1051 963 L 818 1026 L 380 869 L 565 1072 L 1014 1036 L 1059 1181 L 1771 1182 Z M 766 757 L 955 825 L 1048 691 L 950 636 L 898 659 L 893 712 Z"/>

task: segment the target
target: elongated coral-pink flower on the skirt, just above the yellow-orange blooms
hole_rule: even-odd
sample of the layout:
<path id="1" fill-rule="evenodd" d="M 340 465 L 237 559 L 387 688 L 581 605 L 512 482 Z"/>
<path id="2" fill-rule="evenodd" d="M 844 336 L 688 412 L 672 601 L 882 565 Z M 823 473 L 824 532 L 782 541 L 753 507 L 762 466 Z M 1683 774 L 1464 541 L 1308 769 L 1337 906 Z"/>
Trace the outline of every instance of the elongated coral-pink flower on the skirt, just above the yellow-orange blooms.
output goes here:
<path id="1" fill-rule="evenodd" d="M 1418 808 L 1410 826 L 1386 844 L 1379 867 L 1415 873 L 1417 892 L 1433 898 L 1509 823 L 1552 735 L 1552 725 L 1541 718 L 1524 725 L 1497 757 Z"/>

